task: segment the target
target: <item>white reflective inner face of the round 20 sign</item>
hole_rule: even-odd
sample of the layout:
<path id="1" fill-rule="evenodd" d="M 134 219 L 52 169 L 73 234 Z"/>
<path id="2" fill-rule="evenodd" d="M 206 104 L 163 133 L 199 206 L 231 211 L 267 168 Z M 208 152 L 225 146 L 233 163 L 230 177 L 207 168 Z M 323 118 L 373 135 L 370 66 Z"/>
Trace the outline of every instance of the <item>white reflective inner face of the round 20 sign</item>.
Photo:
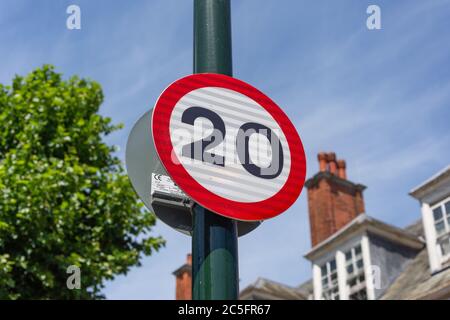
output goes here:
<path id="1" fill-rule="evenodd" d="M 248 135 L 245 146 L 244 141 L 239 144 L 237 139 L 239 130 L 247 123 L 260 127 L 253 128 L 254 134 Z M 281 155 L 279 144 L 272 146 L 267 134 L 272 142 L 280 142 Z M 266 200 L 283 187 L 289 176 L 289 146 L 278 123 L 256 101 L 230 89 L 206 87 L 183 96 L 170 117 L 170 138 L 177 159 L 192 178 L 228 200 Z M 208 148 L 195 141 L 204 141 Z M 239 147 L 243 150 L 237 150 Z M 258 173 L 242 165 L 244 161 L 239 154 L 244 154 L 246 148 L 248 162 L 261 168 Z M 192 153 L 194 157 L 190 156 Z M 280 156 L 283 158 L 278 161 Z"/>

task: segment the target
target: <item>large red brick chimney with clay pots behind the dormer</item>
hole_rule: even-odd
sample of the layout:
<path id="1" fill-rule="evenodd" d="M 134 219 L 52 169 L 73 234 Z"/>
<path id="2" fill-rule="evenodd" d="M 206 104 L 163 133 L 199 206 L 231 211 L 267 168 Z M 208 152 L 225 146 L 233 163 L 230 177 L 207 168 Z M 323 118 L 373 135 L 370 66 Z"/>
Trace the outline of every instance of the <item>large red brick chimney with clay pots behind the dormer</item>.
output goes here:
<path id="1" fill-rule="evenodd" d="M 333 152 L 317 156 L 320 171 L 305 183 L 312 246 L 364 212 L 363 191 L 366 188 L 347 180 L 346 163 Z"/>

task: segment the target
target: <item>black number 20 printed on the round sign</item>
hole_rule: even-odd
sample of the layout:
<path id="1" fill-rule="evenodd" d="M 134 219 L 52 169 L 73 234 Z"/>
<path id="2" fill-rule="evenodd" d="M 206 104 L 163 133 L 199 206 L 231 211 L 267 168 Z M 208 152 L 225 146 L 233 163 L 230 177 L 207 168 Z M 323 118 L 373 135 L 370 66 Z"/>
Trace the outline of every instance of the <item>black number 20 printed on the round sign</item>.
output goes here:
<path id="1" fill-rule="evenodd" d="M 217 113 L 202 107 L 191 107 L 186 109 L 181 116 L 181 122 L 194 125 L 197 118 L 206 118 L 211 121 L 214 128 L 213 133 L 202 140 L 194 141 L 183 146 L 181 155 L 183 157 L 224 167 L 225 157 L 214 153 L 208 153 L 206 151 L 223 142 L 226 133 L 225 123 Z M 220 133 L 220 136 L 216 139 L 217 132 Z M 265 136 L 269 140 L 272 147 L 272 160 L 268 168 L 261 168 L 254 164 L 249 155 L 249 141 L 251 135 L 261 132 L 265 132 Z M 274 148 L 274 146 L 276 147 Z M 262 124 L 255 122 L 244 123 L 238 130 L 236 137 L 236 148 L 239 160 L 241 161 L 244 169 L 256 177 L 263 179 L 274 179 L 278 177 L 283 170 L 284 158 L 280 139 L 270 128 Z"/>

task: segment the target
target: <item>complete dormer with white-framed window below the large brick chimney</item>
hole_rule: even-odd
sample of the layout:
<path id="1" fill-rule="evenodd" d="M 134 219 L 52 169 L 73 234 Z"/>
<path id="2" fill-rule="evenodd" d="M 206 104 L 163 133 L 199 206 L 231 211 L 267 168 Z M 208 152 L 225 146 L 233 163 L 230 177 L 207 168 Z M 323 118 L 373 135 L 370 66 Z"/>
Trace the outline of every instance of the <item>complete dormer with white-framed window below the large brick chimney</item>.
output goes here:
<path id="1" fill-rule="evenodd" d="M 305 255 L 314 299 L 378 299 L 423 247 L 415 234 L 360 215 Z"/>

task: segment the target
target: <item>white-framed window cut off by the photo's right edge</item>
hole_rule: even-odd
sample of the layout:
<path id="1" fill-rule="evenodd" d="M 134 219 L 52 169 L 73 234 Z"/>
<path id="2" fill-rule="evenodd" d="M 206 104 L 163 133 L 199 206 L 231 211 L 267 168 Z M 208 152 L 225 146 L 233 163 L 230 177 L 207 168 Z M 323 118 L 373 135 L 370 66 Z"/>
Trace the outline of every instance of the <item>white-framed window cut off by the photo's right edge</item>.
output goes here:
<path id="1" fill-rule="evenodd" d="M 432 208 L 436 242 L 443 260 L 450 258 L 450 199 Z"/>

